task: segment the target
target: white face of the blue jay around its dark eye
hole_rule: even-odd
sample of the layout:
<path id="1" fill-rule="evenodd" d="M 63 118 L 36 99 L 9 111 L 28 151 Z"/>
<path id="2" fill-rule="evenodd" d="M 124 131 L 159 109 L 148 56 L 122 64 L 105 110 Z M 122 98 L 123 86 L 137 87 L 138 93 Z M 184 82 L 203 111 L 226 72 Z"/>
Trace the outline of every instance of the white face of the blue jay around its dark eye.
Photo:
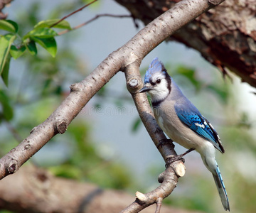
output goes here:
<path id="1" fill-rule="evenodd" d="M 151 83 L 146 85 L 154 87 L 149 91 L 153 102 L 161 101 L 169 94 L 168 83 L 163 72 L 156 72 L 151 77 Z"/>

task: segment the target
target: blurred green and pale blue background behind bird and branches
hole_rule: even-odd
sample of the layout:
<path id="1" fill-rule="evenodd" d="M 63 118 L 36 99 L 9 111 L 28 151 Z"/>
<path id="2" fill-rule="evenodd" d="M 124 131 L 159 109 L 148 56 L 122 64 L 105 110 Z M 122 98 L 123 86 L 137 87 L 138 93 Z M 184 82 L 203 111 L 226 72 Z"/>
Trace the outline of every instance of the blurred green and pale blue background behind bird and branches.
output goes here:
<path id="1" fill-rule="evenodd" d="M 51 3 L 51 4 L 48 4 Z M 6 9 L 21 35 L 38 21 L 61 18 L 83 1 L 14 1 Z M 67 19 L 77 26 L 99 13 L 127 14 L 114 1 L 99 2 Z M 118 26 L 118 28 L 117 28 Z M 142 23 L 139 23 L 142 28 Z M 38 55 L 11 60 L 9 87 L 0 84 L 0 154 L 4 155 L 41 124 L 108 54 L 137 33 L 132 18 L 100 18 L 56 38 L 55 58 Z M 125 33 L 124 33 L 125 32 Z M 226 153 L 217 153 L 231 212 L 256 210 L 255 88 L 221 73 L 201 55 L 181 44 L 162 43 L 146 56 L 142 75 L 158 56 L 186 96 L 215 126 Z M 112 124 L 112 125 L 110 125 Z M 182 153 L 184 148 L 176 146 Z M 213 178 L 198 153 L 185 157 L 186 175 L 164 202 L 203 212 L 224 212 Z M 149 192 L 158 184 L 164 160 L 151 142 L 119 73 L 93 97 L 64 135 L 55 136 L 30 163 L 53 174 L 100 187 Z M 6 212 L 6 211 L 2 211 Z"/>

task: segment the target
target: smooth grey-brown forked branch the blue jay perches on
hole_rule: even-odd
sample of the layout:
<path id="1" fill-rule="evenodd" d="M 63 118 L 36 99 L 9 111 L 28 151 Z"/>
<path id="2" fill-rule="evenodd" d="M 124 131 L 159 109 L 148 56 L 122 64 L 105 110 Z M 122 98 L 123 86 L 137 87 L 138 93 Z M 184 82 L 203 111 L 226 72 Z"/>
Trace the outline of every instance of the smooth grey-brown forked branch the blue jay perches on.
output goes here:
<path id="1" fill-rule="evenodd" d="M 222 1 L 223 0 L 220 0 L 218 3 Z M 137 93 L 143 85 L 139 74 L 139 65 L 145 55 L 162 41 L 181 28 L 181 26 L 186 25 L 213 6 L 214 5 L 210 4 L 207 0 L 184 0 L 179 2 L 172 9 L 166 11 L 166 13 L 163 13 L 149 23 L 125 45 L 111 53 L 85 78 L 85 80 L 72 84 L 70 86 L 70 94 L 60 104 L 60 107 L 58 107 L 46 121 L 33 128 L 30 135 L 16 146 L 16 148 L 13 148 L 1 158 L 0 178 L 15 173 L 21 165 L 42 148 L 50 138 L 57 133 L 64 133 L 70 122 L 73 121 L 75 116 L 85 107 L 85 104 L 87 104 L 100 88 L 117 74 L 119 70 L 125 72 L 127 88 L 132 94 L 139 111 L 139 116 L 146 126 L 152 140 L 156 146 L 158 146 L 159 141 L 165 139 L 165 136 L 154 120 L 146 95 Z M 170 155 L 176 155 L 171 144 L 158 147 L 165 161 Z M 178 176 L 183 175 L 184 171 L 185 168 L 181 162 L 174 163 L 171 167 L 168 165 L 166 173 L 164 173 L 166 175 L 164 178 L 160 178 L 160 180 L 164 181 L 160 181 L 161 185 L 156 188 L 154 192 L 149 192 L 144 195 L 146 197 L 144 203 L 146 203 L 146 205 L 156 203 L 159 202 L 159 197 L 164 199 L 168 196 L 176 186 Z M 171 178 L 168 178 L 167 175 Z M 172 180 L 171 184 L 165 180 Z M 168 189 L 167 192 L 165 192 L 166 189 Z M 154 195 L 154 197 L 152 198 L 151 195 Z M 132 212 L 139 212 L 139 209 L 146 207 L 145 204 L 139 202 L 139 198 L 131 205 L 133 206 Z"/>

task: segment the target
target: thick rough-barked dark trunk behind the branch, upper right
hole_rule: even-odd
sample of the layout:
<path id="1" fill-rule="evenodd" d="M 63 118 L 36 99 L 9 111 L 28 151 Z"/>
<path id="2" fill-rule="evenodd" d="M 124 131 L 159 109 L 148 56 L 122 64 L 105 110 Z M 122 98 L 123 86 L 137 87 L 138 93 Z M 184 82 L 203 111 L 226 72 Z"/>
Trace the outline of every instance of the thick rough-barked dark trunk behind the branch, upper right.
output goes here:
<path id="1" fill-rule="evenodd" d="M 146 25 L 181 0 L 115 1 Z M 211 2 L 215 4 L 215 1 Z M 170 40 L 198 50 L 223 75 L 230 70 L 242 82 L 256 87 L 255 14 L 255 0 L 226 0 L 176 31 Z"/>

